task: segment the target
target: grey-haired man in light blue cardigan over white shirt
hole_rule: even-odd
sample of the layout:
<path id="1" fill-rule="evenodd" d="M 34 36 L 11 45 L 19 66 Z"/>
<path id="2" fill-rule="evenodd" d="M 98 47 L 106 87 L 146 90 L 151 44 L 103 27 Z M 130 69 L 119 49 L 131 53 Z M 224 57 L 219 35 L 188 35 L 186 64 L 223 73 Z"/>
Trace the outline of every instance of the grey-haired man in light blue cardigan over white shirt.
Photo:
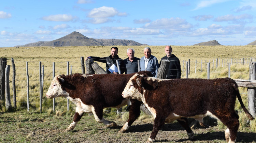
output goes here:
<path id="1" fill-rule="evenodd" d="M 151 55 L 151 49 L 150 47 L 144 48 L 144 55 L 140 59 L 140 70 L 147 70 L 152 73 L 155 77 L 157 76 L 157 70 L 159 68 L 159 64 L 157 61 L 157 58 L 153 55 Z"/>

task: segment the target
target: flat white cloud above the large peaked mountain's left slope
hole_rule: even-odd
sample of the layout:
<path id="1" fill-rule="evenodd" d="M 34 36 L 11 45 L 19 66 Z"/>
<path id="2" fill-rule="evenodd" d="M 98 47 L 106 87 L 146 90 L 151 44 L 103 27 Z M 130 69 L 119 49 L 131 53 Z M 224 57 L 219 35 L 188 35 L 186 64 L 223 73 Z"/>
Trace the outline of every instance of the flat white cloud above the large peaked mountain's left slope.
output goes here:
<path id="1" fill-rule="evenodd" d="M 57 14 L 57 15 L 49 15 L 42 17 L 43 20 L 47 21 L 72 21 L 75 19 L 72 15 L 67 14 Z"/>

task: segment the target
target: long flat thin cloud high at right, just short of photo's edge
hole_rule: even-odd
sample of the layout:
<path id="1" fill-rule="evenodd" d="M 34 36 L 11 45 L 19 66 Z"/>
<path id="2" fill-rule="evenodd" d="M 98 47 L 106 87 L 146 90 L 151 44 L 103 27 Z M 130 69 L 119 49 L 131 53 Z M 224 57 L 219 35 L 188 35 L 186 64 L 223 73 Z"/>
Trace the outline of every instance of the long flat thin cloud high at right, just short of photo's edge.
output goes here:
<path id="1" fill-rule="evenodd" d="M 252 19 L 252 18 L 253 18 L 253 16 L 251 16 L 249 14 L 241 14 L 241 15 L 238 15 L 238 16 L 234 16 L 232 14 L 228 14 L 228 15 L 225 15 L 225 16 L 217 17 L 217 18 L 215 18 L 214 21 L 218 21 L 218 22 L 221 22 L 221 21 L 234 21 L 234 20 Z"/>

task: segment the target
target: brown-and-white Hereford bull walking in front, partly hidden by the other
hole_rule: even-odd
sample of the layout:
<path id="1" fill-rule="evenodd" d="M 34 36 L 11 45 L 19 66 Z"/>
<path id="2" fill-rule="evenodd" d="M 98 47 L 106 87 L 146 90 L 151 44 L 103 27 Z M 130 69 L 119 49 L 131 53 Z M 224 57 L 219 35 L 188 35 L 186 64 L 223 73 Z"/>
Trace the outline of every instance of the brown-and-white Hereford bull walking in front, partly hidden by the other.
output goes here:
<path id="1" fill-rule="evenodd" d="M 120 108 L 130 105 L 129 119 L 119 132 L 126 131 L 129 126 L 139 117 L 141 101 L 135 99 L 125 99 L 122 92 L 134 75 L 58 75 L 56 76 L 46 93 L 47 98 L 66 97 L 75 105 L 75 115 L 73 122 L 66 131 L 73 130 L 84 113 L 93 113 L 95 120 L 105 124 L 107 127 L 116 126 L 115 122 L 110 122 L 102 117 L 104 108 Z M 138 75 L 153 76 L 150 72 L 142 71 Z"/>

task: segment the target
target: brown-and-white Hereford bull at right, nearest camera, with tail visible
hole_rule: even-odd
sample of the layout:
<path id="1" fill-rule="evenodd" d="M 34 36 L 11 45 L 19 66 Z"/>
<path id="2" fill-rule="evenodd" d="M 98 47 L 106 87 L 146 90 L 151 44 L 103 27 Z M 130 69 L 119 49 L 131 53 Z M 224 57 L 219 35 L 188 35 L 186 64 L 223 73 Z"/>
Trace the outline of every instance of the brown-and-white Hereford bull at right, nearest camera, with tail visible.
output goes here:
<path id="1" fill-rule="evenodd" d="M 165 122 L 179 121 L 190 139 L 194 133 L 186 117 L 195 118 L 202 125 L 203 117 L 210 115 L 227 126 L 225 138 L 236 142 L 239 116 L 234 111 L 236 97 L 250 120 L 254 117 L 244 107 L 237 83 L 230 78 L 161 80 L 135 74 L 122 93 L 124 98 L 138 99 L 154 117 L 153 131 L 147 142 L 152 142 Z"/>

